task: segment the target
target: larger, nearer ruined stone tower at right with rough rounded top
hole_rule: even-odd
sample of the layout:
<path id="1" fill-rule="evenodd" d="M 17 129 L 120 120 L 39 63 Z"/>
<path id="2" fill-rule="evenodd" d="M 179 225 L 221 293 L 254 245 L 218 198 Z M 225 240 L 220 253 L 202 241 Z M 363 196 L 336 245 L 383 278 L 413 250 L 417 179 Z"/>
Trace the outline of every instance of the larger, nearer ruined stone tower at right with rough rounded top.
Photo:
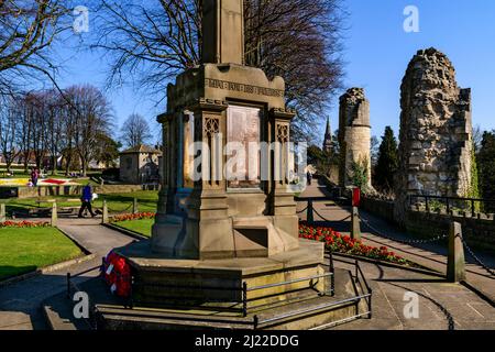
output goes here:
<path id="1" fill-rule="evenodd" d="M 405 224 L 410 195 L 466 197 L 471 190 L 471 89 L 449 58 L 419 51 L 402 85 L 395 218 Z"/>

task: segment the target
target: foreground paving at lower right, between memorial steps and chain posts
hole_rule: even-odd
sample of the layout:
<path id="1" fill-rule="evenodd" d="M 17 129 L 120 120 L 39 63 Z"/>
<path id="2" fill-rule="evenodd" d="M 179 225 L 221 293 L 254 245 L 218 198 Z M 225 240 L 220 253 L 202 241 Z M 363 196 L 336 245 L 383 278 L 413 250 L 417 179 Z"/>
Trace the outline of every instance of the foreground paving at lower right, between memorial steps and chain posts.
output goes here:
<path id="1" fill-rule="evenodd" d="M 342 264 L 336 262 L 336 266 Z M 463 285 L 366 262 L 361 267 L 373 289 L 373 319 L 337 330 L 495 330 L 495 308 Z M 405 314 L 409 302 L 405 295 L 410 293 L 418 297 L 417 317 Z"/>

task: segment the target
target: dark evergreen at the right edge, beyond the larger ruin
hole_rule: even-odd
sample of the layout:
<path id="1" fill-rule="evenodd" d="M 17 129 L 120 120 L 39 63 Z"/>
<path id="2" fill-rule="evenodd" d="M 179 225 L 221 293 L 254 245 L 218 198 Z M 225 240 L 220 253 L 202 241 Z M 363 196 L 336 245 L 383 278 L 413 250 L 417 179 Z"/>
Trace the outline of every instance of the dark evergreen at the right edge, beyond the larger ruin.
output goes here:
<path id="1" fill-rule="evenodd" d="M 485 132 L 477 156 L 480 188 L 484 199 L 495 199 L 495 131 Z M 484 211 L 495 211 L 495 204 L 486 204 Z"/>

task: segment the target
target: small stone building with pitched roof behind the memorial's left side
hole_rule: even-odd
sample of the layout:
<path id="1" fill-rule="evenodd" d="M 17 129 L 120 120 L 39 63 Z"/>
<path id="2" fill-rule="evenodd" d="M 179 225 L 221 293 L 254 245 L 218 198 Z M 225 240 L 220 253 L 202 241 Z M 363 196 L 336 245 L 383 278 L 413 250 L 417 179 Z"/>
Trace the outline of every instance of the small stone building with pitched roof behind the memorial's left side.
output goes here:
<path id="1" fill-rule="evenodd" d="M 161 156 L 161 151 L 147 145 L 120 153 L 120 180 L 131 185 L 160 183 Z"/>

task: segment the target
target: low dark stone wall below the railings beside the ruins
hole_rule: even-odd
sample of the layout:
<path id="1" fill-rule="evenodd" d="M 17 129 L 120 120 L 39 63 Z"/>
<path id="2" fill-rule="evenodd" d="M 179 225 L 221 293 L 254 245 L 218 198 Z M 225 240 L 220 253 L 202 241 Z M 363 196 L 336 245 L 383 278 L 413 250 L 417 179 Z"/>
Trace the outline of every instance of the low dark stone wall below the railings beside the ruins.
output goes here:
<path id="1" fill-rule="evenodd" d="M 363 197 L 361 208 L 391 223 L 396 223 L 393 201 Z M 406 230 L 425 238 L 435 238 L 448 233 L 452 221 L 461 223 L 463 235 L 473 249 L 495 251 L 495 215 L 476 213 L 476 217 L 472 218 L 471 212 L 454 211 L 448 215 L 408 210 Z"/>

